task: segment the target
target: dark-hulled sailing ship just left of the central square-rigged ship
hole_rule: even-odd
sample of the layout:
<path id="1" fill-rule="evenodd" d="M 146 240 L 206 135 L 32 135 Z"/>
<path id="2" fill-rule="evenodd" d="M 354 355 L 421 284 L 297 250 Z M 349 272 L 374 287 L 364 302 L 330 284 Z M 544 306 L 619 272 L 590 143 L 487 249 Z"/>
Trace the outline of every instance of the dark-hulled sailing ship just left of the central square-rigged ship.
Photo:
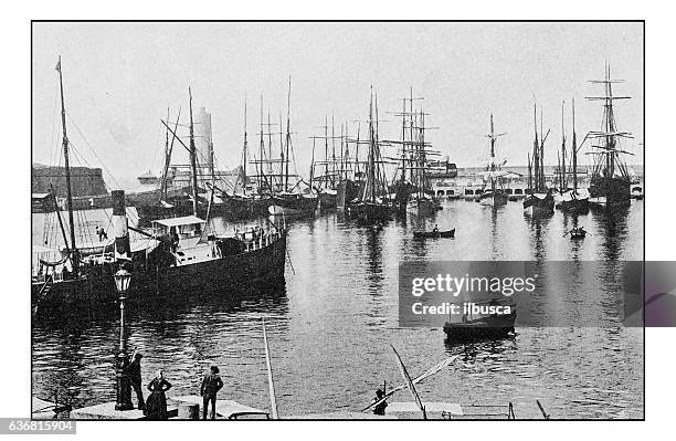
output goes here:
<path id="1" fill-rule="evenodd" d="M 376 97 L 376 108 L 373 108 L 372 94 L 369 104 L 368 147 L 363 189 L 357 199 L 348 206 L 348 213 L 362 222 L 379 223 L 391 219 L 392 203 L 388 195 L 387 178 L 380 153 L 378 97 Z"/>

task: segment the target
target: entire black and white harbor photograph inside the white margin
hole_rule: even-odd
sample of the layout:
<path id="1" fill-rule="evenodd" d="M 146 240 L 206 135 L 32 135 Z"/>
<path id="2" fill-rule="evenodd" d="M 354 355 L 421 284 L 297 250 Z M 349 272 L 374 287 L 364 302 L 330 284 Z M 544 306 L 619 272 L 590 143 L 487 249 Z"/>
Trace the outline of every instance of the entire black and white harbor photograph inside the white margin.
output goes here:
<path id="1" fill-rule="evenodd" d="M 33 418 L 644 419 L 643 22 L 31 32 Z"/>

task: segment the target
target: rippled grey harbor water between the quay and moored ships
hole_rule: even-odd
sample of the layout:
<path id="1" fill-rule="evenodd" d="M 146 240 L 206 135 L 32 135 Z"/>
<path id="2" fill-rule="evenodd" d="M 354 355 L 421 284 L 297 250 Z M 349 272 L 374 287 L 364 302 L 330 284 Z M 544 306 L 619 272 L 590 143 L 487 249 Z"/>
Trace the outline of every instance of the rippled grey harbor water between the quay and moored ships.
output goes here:
<path id="1" fill-rule="evenodd" d="M 89 217 L 106 216 L 92 211 Z M 33 243 L 42 243 L 45 214 L 33 214 Z M 214 219 L 212 227 L 234 225 Z M 456 229 L 455 239 L 415 241 L 413 231 Z M 218 365 L 221 398 L 268 409 L 262 318 L 274 369 L 281 417 L 358 411 L 374 390 L 402 384 L 393 345 L 411 375 L 448 355 L 456 363 L 418 387 L 423 401 L 469 405 L 513 402 L 517 418 L 541 418 L 540 399 L 552 418 L 642 418 L 643 328 L 517 327 L 515 338 L 446 345 L 441 328 L 399 326 L 398 265 L 401 261 L 643 260 L 643 201 L 625 213 L 524 214 L 521 202 L 493 210 L 476 202 L 445 201 L 436 217 L 393 220 L 382 228 L 358 225 L 338 213 L 287 222 L 286 284 L 232 301 L 186 293 L 184 300 L 130 305 L 128 345 L 144 354 L 148 382 L 158 368 L 171 395 L 198 395 L 201 377 Z M 563 233 L 589 231 L 583 241 Z M 95 227 L 92 227 L 94 230 Z M 600 282 L 602 283 L 602 281 Z M 552 288 L 556 292 L 556 288 Z M 580 293 L 599 305 L 582 314 L 608 314 L 598 292 Z M 570 307 L 568 298 L 551 298 Z M 33 395 L 74 407 L 115 400 L 114 354 L 119 312 L 74 313 L 33 321 Z M 600 317 L 604 318 L 604 317 Z M 393 401 L 411 401 L 406 390 Z M 474 411 L 486 411 L 477 406 Z M 506 410 L 503 410 L 506 411 Z M 493 410 L 495 412 L 495 409 Z"/>

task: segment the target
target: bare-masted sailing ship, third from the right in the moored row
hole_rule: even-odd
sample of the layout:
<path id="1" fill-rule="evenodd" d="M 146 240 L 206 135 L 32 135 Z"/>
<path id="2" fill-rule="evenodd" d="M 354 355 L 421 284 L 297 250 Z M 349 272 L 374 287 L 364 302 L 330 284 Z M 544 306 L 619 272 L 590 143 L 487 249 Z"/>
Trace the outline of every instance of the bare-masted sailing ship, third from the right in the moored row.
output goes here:
<path id="1" fill-rule="evenodd" d="M 540 116 L 540 138 L 538 137 L 537 105 L 534 105 L 535 139 L 532 156 L 528 155 L 528 196 L 524 199 L 524 211 L 532 216 L 548 216 L 553 213 L 554 198 L 552 189 L 547 188 L 545 181 L 545 141 L 549 132 L 542 135 L 542 119 Z"/>

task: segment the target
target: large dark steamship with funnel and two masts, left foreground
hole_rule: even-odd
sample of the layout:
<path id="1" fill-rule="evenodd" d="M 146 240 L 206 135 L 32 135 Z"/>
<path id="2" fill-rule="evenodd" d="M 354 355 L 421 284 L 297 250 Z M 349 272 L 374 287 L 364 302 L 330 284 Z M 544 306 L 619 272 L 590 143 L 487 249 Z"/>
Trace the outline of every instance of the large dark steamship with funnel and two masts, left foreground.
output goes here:
<path id="1" fill-rule="evenodd" d="M 123 190 L 112 192 L 115 241 L 101 250 L 85 252 L 76 242 L 73 213 L 70 141 L 66 132 L 66 112 L 63 94 L 61 57 L 56 65 L 61 91 L 62 149 L 66 180 L 66 209 L 68 231 L 57 211 L 65 249 L 60 259 L 46 260 L 53 250 L 39 253 L 39 269 L 32 275 L 32 305 L 38 311 L 66 305 L 97 307 L 118 297 L 114 273 L 118 269 L 131 272 L 129 296 L 134 300 L 186 296 L 192 290 L 200 293 L 216 292 L 239 295 L 241 290 L 262 282 L 278 282 L 284 277 L 286 261 L 286 231 L 275 225 L 249 229 L 234 237 L 205 234 L 207 221 L 198 214 L 196 185 L 197 165 L 194 136 L 191 130 L 190 156 L 192 165 L 193 214 L 157 220 L 151 232 L 128 227 Z M 192 120 L 192 94 L 190 113 Z M 129 230 L 145 239 L 131 242 Z M 70 237 L 68 237 L 70 233 Z M 40 245 L 42 248 L 42 245 Z M 91 250 L 89 250 L 91 251 Z M 43 308 L 44 306 L 44 308 Z"/>

